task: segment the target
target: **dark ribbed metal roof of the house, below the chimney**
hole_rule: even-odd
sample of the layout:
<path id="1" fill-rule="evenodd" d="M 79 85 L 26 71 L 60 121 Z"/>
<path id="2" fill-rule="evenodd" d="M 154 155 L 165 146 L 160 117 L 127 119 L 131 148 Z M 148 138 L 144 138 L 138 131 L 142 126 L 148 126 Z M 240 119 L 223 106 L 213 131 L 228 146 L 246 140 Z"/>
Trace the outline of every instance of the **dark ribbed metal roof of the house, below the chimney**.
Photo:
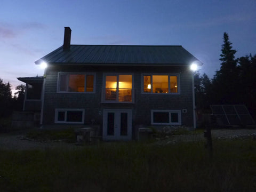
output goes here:
<path id="1" fill-rule="evenodd" d="M 67 65 L 189 65 L 197 61 L 182 46 L 167 45 L 70 45 L 35 61 Z"/>

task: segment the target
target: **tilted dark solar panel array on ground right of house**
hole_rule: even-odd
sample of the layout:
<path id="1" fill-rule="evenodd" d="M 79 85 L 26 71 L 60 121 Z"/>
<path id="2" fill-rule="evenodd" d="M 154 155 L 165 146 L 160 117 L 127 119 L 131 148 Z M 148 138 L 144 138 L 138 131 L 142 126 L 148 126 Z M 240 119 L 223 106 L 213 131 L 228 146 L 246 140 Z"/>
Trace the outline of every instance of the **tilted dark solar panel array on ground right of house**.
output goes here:
<path id="1" fill-rule="evenodd" d="M 244 105 L 211 105 L 212 113 L 222 125 L 254 125 Z"/>

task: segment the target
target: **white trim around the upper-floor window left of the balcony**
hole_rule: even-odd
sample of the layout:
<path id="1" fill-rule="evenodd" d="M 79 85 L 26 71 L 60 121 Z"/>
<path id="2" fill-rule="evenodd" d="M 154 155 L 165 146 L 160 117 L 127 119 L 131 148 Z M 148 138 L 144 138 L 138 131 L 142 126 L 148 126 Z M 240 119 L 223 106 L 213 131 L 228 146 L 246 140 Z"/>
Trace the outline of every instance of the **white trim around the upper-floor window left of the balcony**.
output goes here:
<path id="1" fill-rule="evenodd" d="M 86 75 L 93 75 L 93 91 L 92 92 L 70 92 L 70 91 L 60 91 L 60 75 L 85 75 L 84 81 L 84 90 L 86 87 Z M 68 79 L 67 79 L 68 81 Z M 68 84 L 68 82 L 67 82 Z M 76 72 L 59 72 L 58 73 L 58 81 L 57 81 L 57 93 L 70 93 L 70 94 L 94 94 L 95 93 L 95 85 L 96 85 L 96 73 L 76 73 Z"/>

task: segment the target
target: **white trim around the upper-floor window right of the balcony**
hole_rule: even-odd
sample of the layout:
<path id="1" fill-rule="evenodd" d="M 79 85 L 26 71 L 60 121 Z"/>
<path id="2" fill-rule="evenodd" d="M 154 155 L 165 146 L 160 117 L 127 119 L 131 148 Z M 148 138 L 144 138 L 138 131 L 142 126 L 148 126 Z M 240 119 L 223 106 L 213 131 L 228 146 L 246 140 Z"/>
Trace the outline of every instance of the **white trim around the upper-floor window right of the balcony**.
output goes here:
<path id="1" fill-rule="evenodd" d="M 144 92 L 144 76 L 151 76 L 150 77 L 150 84 L 152 86 L 153 84 L 153 75 L 167 75 L 168 76 L 168 89 L 170 90 L 170 76 L 177 76 L 177 86 L 178 86 L 178 91 L 177 93 L 146 93 Z M 151 89 L 152 90 L 152 89 Z M 141 94 L 155 94 L 155 95 L 170 95 L 170 94 L 180 94 L 180 74 L 170 74 L 170 73 L 167 73 L 167 74 L 150 74 L 150 73 L 145 73 L 145 74 L 142 74 L 141 75 Z"/>

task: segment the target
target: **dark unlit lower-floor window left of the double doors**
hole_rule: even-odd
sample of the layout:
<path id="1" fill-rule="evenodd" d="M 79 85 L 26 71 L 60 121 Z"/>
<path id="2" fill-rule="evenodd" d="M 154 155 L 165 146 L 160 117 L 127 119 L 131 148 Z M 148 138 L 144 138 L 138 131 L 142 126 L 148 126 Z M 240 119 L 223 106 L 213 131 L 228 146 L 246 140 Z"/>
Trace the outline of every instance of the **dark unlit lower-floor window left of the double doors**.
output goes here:
<path id="1" fill-rule="evenodd" d="M 84 109 L 55 109 L 55 123 L 84 123 Z"/>

